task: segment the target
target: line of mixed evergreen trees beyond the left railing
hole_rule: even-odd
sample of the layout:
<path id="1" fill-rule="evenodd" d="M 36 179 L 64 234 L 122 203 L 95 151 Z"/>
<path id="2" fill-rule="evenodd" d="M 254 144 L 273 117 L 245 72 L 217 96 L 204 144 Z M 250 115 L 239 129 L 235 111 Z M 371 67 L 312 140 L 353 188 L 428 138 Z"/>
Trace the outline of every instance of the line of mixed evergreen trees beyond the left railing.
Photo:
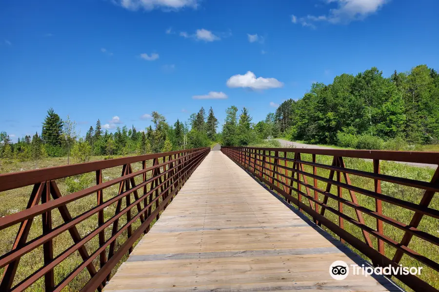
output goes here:
<path id="1" fill-rule="evenodd" d="M 44 157 L 67 156 L 67 163 L 86 162 L 93 155 L 141 155 L 168 152 L 185 148 L 206 147 L 217 137 L 218 119 L 212 108 L 206 115 L 204 108 L 191 115 L 185 123 L 177 120 L 170 125 L 165 117 L 153 111 L 152 125 L 138 130 L 134 126 L 116 128 L 115 132 L 102 129 L 100 120 L 90 126 L 85 136 L 76 129 L 69 116 L 62 120 L 50 108 L 42 123 L 40 134 L 26 135 L 12 143 L 5 131 L 0 132 L 0 158 L 5 163 L 14 159 L 38 161 Z"/>

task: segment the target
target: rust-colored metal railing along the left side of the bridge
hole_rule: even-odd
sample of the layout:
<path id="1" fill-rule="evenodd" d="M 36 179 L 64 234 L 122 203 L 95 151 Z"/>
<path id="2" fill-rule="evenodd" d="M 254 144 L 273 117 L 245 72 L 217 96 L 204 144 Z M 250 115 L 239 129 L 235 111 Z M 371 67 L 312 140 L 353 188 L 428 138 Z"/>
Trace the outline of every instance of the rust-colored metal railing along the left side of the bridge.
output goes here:
<path id="1" fill-rule="evenodd" d="M 154 220 L 159 219 L 160 212 L 172 201 L 209 151 L 210 148 L 189 149 L 0 175 L 0 192 L 22 187 L 20 191 L 32 190 L 27 208 L 0 218 L 0 232 L 8 228 L 17 231 L 15 238 L 4 235 L 0 238 L 0 244 L 10 243 L 11 246 L 8 252 L 0 255 L 0 269 L 3 269 L 0 291 L 23 291 L 31 285 L 40 285 L 30 287 L 31 290 L 61 291 L 82 271 L 87 273 L 85 269 L 89 274 L 85 275 L 88 281 L 67 289 L 101 291 L 112 270 L 132 251 L 137 240 L 149 231 Z M 120 177 L 112 179 L 102 174 L 118 166 L 121 166 Z M 95 185 L 61 196 L 58 181 L 64 182 L 64 178 L 86 173 L 93 177 L 96 174 Z M 116 188 L 118 184 L 119 189 Z M 92 195 L 96 198 L 90 197 Z M 104 200 L 104 195 L 107 200 Z M 84 202 L 87 205 L 84 206 Z M 78 205 L 71 208 L 72 204 Z M 60 222 L 54 226 L 53 217 L 58 213 L 53 211 L 56 209 Z M 79 215 L 72 216 L 72 209 L 75 209 L 73 212 L 80 209 L 76 212 Z M 42 230 L 41 224 L 37 224 L 40 218 Z M 93 220 L 91 230 L 84 231 L 78 227 L 84 222 L 89 224 L 90 220 Z M 37 234 L 28 240 L 31 231 Z M 60 250 L 62 244 L 58 238 L 62 234 L 70 237 L 72 244 Z M 20 270 L 20 258 L 29 254 L 35 261 L 41 260 L 40 267 L 30 272 L 28 267 Z M 68 267 L 68 273 L 60 271 L 57 274 L 59 264 L 76 254 L 81 258 L 79 264 Z"/>

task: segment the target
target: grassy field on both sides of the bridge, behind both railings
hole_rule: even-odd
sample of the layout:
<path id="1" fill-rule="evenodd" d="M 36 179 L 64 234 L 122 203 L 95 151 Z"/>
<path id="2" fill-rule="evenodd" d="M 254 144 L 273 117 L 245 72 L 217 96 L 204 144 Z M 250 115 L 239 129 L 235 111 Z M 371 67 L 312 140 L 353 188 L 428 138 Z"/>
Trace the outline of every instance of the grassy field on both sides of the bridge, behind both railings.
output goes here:
<path id="1" fill-rule="evenodd" d="M 274 153 L 272 153 L 274 154 Z M 104 157 L 93 157 L 93 160 L 101 160 Z M 311 155 L 310 154 L 302 154 L 302 160 L 311 161 Z M 359 169 L 364 171 L 373 171 L 373 165 L 372 162 L 365 161 L 362 159 L 352 159 L 352 158 L 345 158 L 344 159 L 346 167 L 353 168 L 353 169 Z M 317 156 L 317 162 L 322 164 L 331 164 L 332 157 L 329 156 Z M 37 164 L 34 162 L 14 162 L 12 164 L 5 164 L 2 165 L 2 170 L 4 172 L 12 172 L 12 171 L 24 171 L 29 169 L 35 169 L 36 167 L 47 167 L 47 166 L 57 166 L 57 165 L 64 165 L 66 164 L 66 158 L 47 158 L 44 160 L 41 160 Z M 151 162 L 150 162 L 151 164 Z M 149 165 L 150 165 L 149 164 Z M 292 167 L 292 163 L 288 164 L 289 167 Z M 140 163 L 132 164 L 133 171 L 139 170 L 141 168 Z M 306 172 L 312 173 L 312 167 L 304 165 L 304 170 Z M 111 179 L 115 179 L 120 177 L 121 167 L 114 167 L 103 170 L 102 176 L 103 180 L 108 181 Z M 421 168 L 421 167 L 414 167 L 409 166 L 405 164 L 397 164 L 392 162 L 382 162 L 381 163 L 381 173 L 398 176 L 398 177 L 404 177 L 409 179 L 415 179 L 420 181 L 428 182 L 431 180 L 431 177 L 434 173 L 434 169 L 431 168 Z M 150 173 L 148 173 L 150 174 Z M 328 177 L 329 170 L 325 169 L 318 169 L 318 175 L 323 177 Z M 351 175 L 351 181 L 352 184 L 367 190 L 374 190 L 374 181 L 372 179 L 367 179 L 359 176 Z M 94 182 L 95 174 L 94 173 L 87 173 L 81 176 L 75 177 L 75 180 L 82 182 L 85 184 L 85 186 L 92 186 L 95 184 Z M 136 184 L 140 183 L 141 178 L 136 178 Z M 308 178 L 309 181 L 312 181 L 311 178 Z M 66 179 L 60 179 L 56 181 L 61 194 L 67 195 L 71 192 L 69 191 L 69 188 L 72 187 L 71 182 L 69 183 Z M 319 182 L 318 187 L 320 189 L 324 189 L 326 186 L 326 183 Z M 78 186 L 76 186 L 78 187 Z M 302 191 L 303 191 L 302 187 Z M 27 201 L 29 199 L 29 195 L 31 193 L 32 187 L 23 187 L 20 189 L 10 190 L 6 192 L 0 193 L 0 217 L 7 216 L 9 214 L 13 214 L 16 212 L 19 212 L 23 209 L 25 209 Z M 105 189 L 104 194 L 104 201 L 109 200 L 110 198 L 114 197 L 118 193 L 118 185 L 114 185 L 108 189 Z M 336 187 L 331 188 L 331 193 L 337 194 Z M 419 203 L 421 196 L 422 196 L 422 190 L 415 189 L 412 187 L 406 187 L 397 185 L 394 183 L 386 183 L 382 182 L 382 193 L 399 198 L 405 201 L 410 201 L 414 203 Z M 350 201 L 350 196 L 347 190 L 343 190 L 343 198 Z M 358 197 L 359 204 L 362 206 L 365 206 L 369 208 L 370 210 L 375 210 L 375 199 L 367 197 L 365 195 L 356 194 Z M 11 200 L 13 198 L 13 200 Z M 319 201 L 323 200 L 323 195 L 319 195 Z M 302 202 L 304 204 L 308 204 L 308 200 L 305 200 L 302 198 Z M 337 201 L 329 199 L 328 204 L 335 209 L 337 209 Z M 125 200 L 122 200 L 122 208 L 125 207 Z M 407 209 L 404 209 L 402 207 L 398 207 L 395 205 L 388 204 L 386 202 L 382 203 L 383 205 L 383 214 L 386 216 L 389 216 L 393 219 L 396 219 L 402 223 L 408 224 L 414 214 L 414 212 L 409 211 Z M 72 217 L 75 217 L 81 213 L 83 213 L 86 210 L 89 210 L 90 208 L 96 206 L 96 195 L 92 194 L 89 196 L 86 196 L 80 200 L 74 201 L 69 203 L 68 205 L 69 211 L 72 215 Z M 143 204 L 142 204 L 143 206 Z M 431 202 L 430 208 L 439 209 L 439 198 L 436 195 Z M 116 203 L 112 204 L 108 208 L 104 209 L 104 217 L 105 220 L 111 218 L 114 216 L 116 208 Z M 136 208 L 134 208 L 136 209 Z M 133 212 L 133 216 L 137 213 L 137 210 Z M 356 219 L 356 213 L 354 209 L 344 206 L 344 214 L 350 216 L 351 218 Z M 54 210 L 52 212 L 53 216 L 53 227 L 58 226 L 63 221 L 60 217 L 60 213 L 58 210 Z M 338 217 L 327 211 L 325 213 L 325 216 L 329 219 L 331 219 L 333 222 L 338 223 Z M 372 218 L 370 216 L 367 216 L 363 214 L 364 220 L 367 224 L 367 226 L 371 228 L 376 227 L 376 219 Z M 120 219 L 119 226 L 123 226 L 126 223 L 126 217 L 123 216 Z M 154 222 L 153 222 L 154 223 Z M 98 219 L 97 215 L 92 216 L 91 218 L 81 222 L 78 225 L 78 229 L 80 232 L 80 235 L 83 237 L 90 233 L 93 229 L 97 227 Z M 140 220 L 137 220 L 135 224 L 133 225 L 133 230 L 137 228 L 137 226 L 140 225 Z M 384 234 L 396 241 L 400 241 L 403 232 L 400 231 L 397 228 L 394 228 L 391 225 L 388 225 L 386 223 L 384 225 Z M 344 227 L 347 231 L 349 231 L 351 234 L 355 235 L 356 237 L 363 240 L 362 233 L 359 229 L 359 227 L 344 221 Z M 9 228 L 6 228 L 4 230 L 0 231 L 0 255 L 5 254 L 6 252 L 10 251 L 13 241 L 15 239 L 15 236 L 17 234 L 18 226 L 12 226 Z M 434 235 L 436 237 L 439 237 L 439 220 L 433 219 L 428 216 L 424 216 L 420 225 L 419 229 L 425 232 L 428 232 L 431 235 Z M 330 231 L 328 231 L 331 233 Z M 41 216 L 38 216 L 35 218 L 31 233 L 28 237 L 28 240 L 40 236 L 42 233 L 41 230 Z M 109 238 L 111 235 L 111 225 L 110 227 L 105 229 L 105 239 Z M 335 236 L 333 234 L 333 236 Z M 337 237 L 337 236 L 335 236 Z M 126 231 L 118 238 L 116 248 L 120 246 L 127 238 Z M 375 237 L 371 236 L 372 242 L 375 247 L 377 247 L 377 240 Z M 54 238 L 54 256 L 57 256 L 62 251 L 64 251 L 66 248 L 71 246 L 73 244 L 73 240 L 71 239 L 68 232 L 62 233 L 60 236 Z M 95 237 L 91 241 L 89 241 L 86 244 L 86 248 L 91 254 L 94 252 L 99 246 L 98 238 Z M 425 240 L 422 240 L 418 237 L 413 237 L 409 247 L 413 249 L 414 251 L 418 252 L 419 254 L 423 256 L 427 256 L 428 258 L 432 259 L 435 262 L 439 262 L 439 248 L 438 246 L 431 244 Z M 351 247 L 352 248 L 352 247 Z M 355 249 L 354 249 L 355 251 Z M 359 253 L 358 251 L 356 251 Z M 108 253 L 108 248 L 107 248 Z M 395 253 L 395 249 L 388 244 L 385 244 L 385 254 L 387 257 L 392 258 Z M 359 253 L 360 254 L 360 253 Z M 360 254 L 361 255 L 361 254 Z M 60 265 L 57 266 L 55 269 L 55 282 L 58 283 L 61 279 L 63 279 L 66 275 L 71 273 L 73 269 L 78 266 L 82 262 L 78 252 L 72 254 L 69 256 L 66 260 L 62 261 Z M 26 256 L 23 256 L 20 261 L 19 270 L 17 272 L 16 282 L 14 284 L 17 284 L 19 281 L 23 280 L 25 277 L 30 275 L 31 273 L 35 272 L 37 269 L 42 267 L 43 258 L 42 258 L 42 247 L 35 249 L 31 253 L 27 254 Z M 96 267 L 99 266 L 99 257 L 97 257 L 94 260 L 94 265 Z M 434 271 L 431 268 L 426 267 L 425 265 L 419 263 L 417 260 L 412 259 L 406 255 L 402 257 L 401 264 L 404 266 L 422 266 L 424 269 L 422 270 L 421 278 L 425 281 L 427 281 L 430 285 L 434 286 L 435 288 L 439 288 L 439 273 Z M 118 267 L 118 266 L 117 266 Z M 117 267 L 113 270 L 113 272 L 116 271 Z M 3 273 L 3 270 L 0 269 L 0 273 Z M 78 291 L 80 288 L 89 280 L 90 276 L 86 269 L 84 269 L 75 279 L 72 281 L 65 289 L 64 291 Z M 396 280 L 397 283 L 401 285 L 401 283 Z M 404 288 L 404 285 L 401 285 Z M 408 289 L 410 290 L 410 289 Z M 43 279 L 40 278 L 33 286 L 29 288 L 29 291 L 44 291 L 44 283 Z"/>

